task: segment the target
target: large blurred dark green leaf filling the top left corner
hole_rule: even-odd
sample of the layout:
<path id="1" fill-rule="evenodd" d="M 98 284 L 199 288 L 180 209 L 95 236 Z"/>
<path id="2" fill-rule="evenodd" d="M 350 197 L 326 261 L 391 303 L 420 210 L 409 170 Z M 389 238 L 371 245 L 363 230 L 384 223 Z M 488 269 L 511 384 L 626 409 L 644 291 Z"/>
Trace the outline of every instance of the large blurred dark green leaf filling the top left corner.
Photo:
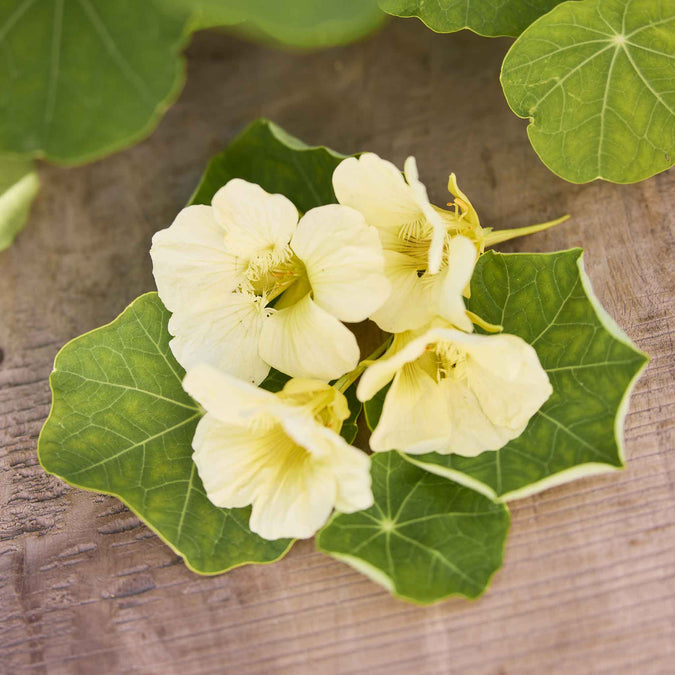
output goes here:
<path id="1" fill-rule="evenodd" d="M 160 0 L 0 4 L 0 151 L 63 163 L 147 135 L 183 83 L 186 17 Z"/>

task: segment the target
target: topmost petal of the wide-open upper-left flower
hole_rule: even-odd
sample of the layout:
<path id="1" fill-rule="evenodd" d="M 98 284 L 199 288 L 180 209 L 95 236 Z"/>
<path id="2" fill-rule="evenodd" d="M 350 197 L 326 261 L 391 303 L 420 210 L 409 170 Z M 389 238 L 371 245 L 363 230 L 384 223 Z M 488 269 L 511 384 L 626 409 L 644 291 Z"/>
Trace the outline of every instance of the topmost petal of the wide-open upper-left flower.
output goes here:
<path id="1" fill-rule="evenodd" d="M 247 260 L 283 251 L 298 224 L 298 210 L 287 197 L 240 178 L 220 188 L 211 204 L 227 233 L 229 251 Z"/>

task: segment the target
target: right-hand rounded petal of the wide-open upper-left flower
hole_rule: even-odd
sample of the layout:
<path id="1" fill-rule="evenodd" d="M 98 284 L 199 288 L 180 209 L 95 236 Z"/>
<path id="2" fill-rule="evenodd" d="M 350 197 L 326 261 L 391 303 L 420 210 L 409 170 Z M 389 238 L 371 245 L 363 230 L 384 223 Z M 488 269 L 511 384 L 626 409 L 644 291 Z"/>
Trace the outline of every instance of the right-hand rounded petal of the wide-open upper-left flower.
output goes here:
<path id="1" fill-rule="evenodd" d="M 364 321 L 389 295 L 377 230 L 348 206 L 308 211 L 291 248 L 305 265 L 314 302 L 342 321 Z"/>

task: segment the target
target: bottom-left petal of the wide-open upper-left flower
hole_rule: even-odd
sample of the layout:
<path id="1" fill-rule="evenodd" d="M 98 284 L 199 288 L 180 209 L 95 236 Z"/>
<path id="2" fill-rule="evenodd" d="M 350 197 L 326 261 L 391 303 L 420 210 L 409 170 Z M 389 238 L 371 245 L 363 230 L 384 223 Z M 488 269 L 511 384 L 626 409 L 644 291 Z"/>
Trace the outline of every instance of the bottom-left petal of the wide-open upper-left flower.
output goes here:
<path id="1" fill-rule="evenodd" d="M 174 336 L 171 351 L 185 370 L 208 363 L 258 384 L 269 373 L 269 364 L 258 353 L 266 316 L 260 298 L 253 295 L 210 294 L 194 307 L 173 313 L 169 319 L 169 332 Z"/>

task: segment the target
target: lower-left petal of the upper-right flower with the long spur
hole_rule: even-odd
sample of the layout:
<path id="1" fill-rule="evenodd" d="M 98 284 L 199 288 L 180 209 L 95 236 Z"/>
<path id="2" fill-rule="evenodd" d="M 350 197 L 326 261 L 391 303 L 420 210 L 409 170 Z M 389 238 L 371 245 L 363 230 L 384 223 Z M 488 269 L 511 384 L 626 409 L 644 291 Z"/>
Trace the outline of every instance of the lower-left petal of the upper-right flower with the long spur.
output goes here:
<path id="1" fill-rule="evenodd" d="M 397 251 L 384 252 L 385 274 L 391 291 L 371 319 L 388 333 L 414 330 L 429 323 L 436 314 L 433 285 L 438 275 L 417 275 L 415 262 Z"/>

